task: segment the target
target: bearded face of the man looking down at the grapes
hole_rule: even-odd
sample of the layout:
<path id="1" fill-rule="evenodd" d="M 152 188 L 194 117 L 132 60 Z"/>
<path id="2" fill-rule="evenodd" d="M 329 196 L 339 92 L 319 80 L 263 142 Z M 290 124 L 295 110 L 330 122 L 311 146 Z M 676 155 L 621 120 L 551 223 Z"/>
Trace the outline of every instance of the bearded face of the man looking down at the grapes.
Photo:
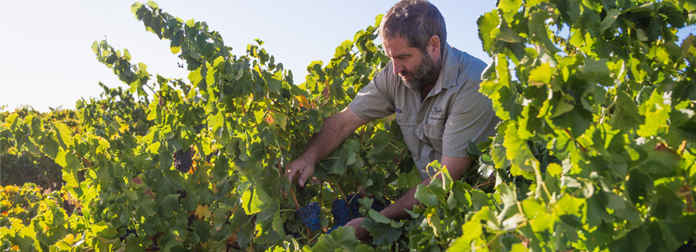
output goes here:
<path id="1" fill-rule="evenodd" d="M 392 59 L 394 74 L 398 74 L 409 88 L 420 90 L 426 84 L 437 81 L 441 63 L 416 47 L 409 47 L 404 38 L 383 39 L 384 51 Z"/>

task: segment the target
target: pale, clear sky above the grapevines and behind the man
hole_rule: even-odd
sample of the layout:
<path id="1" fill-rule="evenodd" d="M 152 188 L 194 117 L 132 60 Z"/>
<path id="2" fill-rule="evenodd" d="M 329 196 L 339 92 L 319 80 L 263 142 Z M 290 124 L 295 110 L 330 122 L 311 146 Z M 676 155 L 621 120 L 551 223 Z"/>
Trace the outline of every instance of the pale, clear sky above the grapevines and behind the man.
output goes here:
<path id="1" fill-rule="evenodd" d="M 141 1 L 144 2 L 144 1 Z M 183 20 L 205 21 L 219 31 L 232 54 L 242 55 L 259 38 L 263 48 L 296 83 L 303 82 L 310 62 L 327 63 L 335 47 L 374 25 L 397 1 L 255 0 L 155 1 Z M 431 1 L 445 17 L 448 42 L 488 62 L 477 36 L 476 19 L 495 8 L 495 1 Z M 134 1 L 0 0 L 0 106 L 29 105 L 38 111 L 74 109 L 77 100 L 98 97 L 101 81 L 126 87 L 92 52 L 95 40 L 127 48 L 133 63 L 150 74 L 186 79 L 188 72 L 169 50 L 167 40 L 145 31 L 130 11 Z"/>

